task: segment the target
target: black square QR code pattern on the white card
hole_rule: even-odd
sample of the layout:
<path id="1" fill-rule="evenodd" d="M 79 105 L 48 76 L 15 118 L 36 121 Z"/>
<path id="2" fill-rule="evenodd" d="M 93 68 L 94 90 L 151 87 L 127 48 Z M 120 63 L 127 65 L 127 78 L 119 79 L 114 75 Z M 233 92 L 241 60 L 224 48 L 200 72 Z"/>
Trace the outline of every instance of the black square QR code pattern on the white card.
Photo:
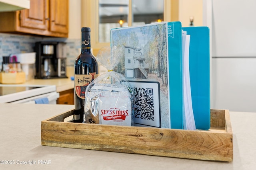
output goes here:
<path id="1" fill-rule="evenodd" d="M 154 96 L 152 88 L 133 88 L 134 117 L 154 121 Z"/>

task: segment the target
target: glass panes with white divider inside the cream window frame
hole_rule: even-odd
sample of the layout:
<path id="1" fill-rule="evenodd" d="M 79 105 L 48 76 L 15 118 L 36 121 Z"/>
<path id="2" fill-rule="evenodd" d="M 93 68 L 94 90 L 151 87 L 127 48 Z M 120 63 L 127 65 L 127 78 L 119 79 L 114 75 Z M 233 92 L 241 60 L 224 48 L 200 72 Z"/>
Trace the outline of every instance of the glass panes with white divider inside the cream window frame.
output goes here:
<path id="1" fill-rule="evenodd" d="M 161 22 L 164 0 L 98 0 L 98 43 L 110 43 L 110 29 Z"/>

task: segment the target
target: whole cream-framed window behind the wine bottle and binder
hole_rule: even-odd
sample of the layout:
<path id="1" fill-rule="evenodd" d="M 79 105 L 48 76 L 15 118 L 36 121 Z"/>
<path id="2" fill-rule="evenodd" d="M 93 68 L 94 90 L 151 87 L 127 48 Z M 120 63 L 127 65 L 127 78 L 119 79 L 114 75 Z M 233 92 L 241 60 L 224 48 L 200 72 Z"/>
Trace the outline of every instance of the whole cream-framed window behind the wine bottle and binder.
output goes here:
<path id="1" fill-rule="evenodd" d="M 110 45 L 110 29 L 158 21 L 177 21 L 178 0 L 81 0 L 82 27 L 91 27 L 91 45 Z"/>

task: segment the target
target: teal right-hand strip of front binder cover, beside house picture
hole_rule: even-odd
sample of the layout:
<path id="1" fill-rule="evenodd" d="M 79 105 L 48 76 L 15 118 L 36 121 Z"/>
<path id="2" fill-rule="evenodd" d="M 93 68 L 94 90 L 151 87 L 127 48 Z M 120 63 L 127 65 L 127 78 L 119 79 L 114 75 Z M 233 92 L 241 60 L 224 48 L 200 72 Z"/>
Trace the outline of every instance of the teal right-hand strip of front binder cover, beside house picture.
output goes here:
<path id="1" fill-rule="evenodd" d="M 183 129 L 182 27 L 180 21 L 168 22 L 168 59 L 171 128 Z"/>

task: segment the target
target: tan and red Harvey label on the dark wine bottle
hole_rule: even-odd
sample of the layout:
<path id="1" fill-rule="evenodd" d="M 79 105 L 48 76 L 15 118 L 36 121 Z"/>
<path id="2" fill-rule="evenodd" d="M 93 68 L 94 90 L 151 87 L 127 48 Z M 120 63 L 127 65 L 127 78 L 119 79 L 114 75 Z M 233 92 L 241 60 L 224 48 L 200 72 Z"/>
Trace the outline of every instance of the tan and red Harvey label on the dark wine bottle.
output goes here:
<path id="1" fill-rule="evenodd" d="M 76 91 L 76 95 L 79 98 L 81 99 L 85 98 L 86 87 L 96 77 L 98 77 L 98 74 L 96 74 L 96 72 L 89 72 L 89 74 L 75 74 L 75 91 Z"/>

